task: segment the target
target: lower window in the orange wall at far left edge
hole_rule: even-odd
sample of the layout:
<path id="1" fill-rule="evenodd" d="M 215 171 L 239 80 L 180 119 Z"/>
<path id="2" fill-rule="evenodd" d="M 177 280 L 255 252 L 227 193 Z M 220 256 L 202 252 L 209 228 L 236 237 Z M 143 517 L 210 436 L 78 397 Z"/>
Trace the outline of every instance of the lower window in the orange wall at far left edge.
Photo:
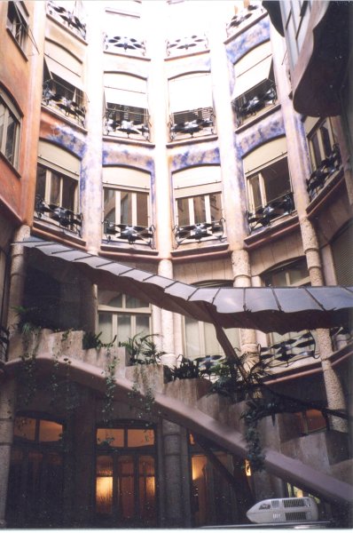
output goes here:
<path id="1" fill-rule="evenodd" d="M 20 114 L 0 89 L 0 152 L 16 168 L 20 145 Z"/>

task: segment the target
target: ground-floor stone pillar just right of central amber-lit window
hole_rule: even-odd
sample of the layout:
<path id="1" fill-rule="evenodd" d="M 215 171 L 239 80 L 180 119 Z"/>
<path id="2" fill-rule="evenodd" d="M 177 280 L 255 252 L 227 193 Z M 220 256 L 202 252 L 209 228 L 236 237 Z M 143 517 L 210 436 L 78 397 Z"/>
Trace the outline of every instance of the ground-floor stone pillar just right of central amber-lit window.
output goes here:
<path id="1" fill-rule="evenodd" d="M 166 489 L 164 491 L 165 527 L 184 528 L 184 501 L 190 500 L 189 495 L 184 494 L 182 462 L 182 434 L 180 426 L 176 426 L 167 420 L 162 421 L 164 476 Z"/>

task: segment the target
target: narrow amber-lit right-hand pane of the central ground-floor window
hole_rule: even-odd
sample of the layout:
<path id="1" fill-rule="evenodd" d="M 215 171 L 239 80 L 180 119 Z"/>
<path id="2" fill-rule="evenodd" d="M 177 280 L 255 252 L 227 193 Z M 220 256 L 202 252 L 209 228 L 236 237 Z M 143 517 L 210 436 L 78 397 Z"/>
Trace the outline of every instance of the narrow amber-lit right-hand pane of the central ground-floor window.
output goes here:
<path id="1" fill-rule="evenodd" d="M 138 458 L 138 490 L 142 518 L 153 519 L 155 515 L 155 480 L 153 457 Z"/>

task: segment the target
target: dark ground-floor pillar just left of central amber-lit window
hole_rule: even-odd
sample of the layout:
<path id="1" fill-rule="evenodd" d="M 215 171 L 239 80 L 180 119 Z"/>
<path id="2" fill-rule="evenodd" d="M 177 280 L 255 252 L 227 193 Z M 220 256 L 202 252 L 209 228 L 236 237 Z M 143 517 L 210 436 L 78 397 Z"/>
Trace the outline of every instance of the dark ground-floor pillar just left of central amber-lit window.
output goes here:
<path id="1" fill-rule="evenodd" d="M 89 390 L 81 393 L 80 406 L 75 410 L 74 430 L 74 491 L 71 527 L 89 527 L 92 523 L 93 477 L 95 473 L 95 395 Z"/>

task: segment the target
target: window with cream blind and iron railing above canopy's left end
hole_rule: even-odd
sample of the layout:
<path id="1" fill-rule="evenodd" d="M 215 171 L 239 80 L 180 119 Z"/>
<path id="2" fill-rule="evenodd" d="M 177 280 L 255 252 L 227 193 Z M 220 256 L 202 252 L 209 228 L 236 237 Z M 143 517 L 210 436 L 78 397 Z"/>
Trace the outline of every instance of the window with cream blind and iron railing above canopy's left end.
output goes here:
<path id="1" fill-rule="evenodd" d="M 39 141 L 35 211 L 37 219 L 78 232 L 80 161 L 65 150 Z"/>

